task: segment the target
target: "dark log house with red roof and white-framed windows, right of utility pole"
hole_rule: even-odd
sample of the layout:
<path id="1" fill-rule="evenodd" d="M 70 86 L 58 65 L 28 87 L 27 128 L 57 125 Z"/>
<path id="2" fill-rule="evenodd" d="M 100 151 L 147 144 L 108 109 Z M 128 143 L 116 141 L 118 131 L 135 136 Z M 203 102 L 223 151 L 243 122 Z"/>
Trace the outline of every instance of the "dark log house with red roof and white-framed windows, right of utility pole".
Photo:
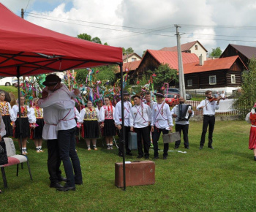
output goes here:
<path id="1" fill-rule="evenodd" d="M 241 72 L 247 69 L 239 56 L 217 58 L 183 65 L 186 89 L 225 90 L 241 86 Z M 189 91 L 189 90 L 188 90 Z"/>

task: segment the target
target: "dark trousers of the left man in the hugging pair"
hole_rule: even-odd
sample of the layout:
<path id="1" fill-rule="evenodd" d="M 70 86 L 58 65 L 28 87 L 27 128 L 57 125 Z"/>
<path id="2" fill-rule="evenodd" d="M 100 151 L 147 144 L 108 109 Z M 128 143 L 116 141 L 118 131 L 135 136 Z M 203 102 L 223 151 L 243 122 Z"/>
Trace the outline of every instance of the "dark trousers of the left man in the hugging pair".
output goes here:
<path id="1" fill-rule="evenodd" d="M 59 157 L 59 144 L 57 139 L 47 140 L 48 148 L 48 173 L 50 175 L 50 183 L 58 183 L 61 178 L 61 159 Z"/>

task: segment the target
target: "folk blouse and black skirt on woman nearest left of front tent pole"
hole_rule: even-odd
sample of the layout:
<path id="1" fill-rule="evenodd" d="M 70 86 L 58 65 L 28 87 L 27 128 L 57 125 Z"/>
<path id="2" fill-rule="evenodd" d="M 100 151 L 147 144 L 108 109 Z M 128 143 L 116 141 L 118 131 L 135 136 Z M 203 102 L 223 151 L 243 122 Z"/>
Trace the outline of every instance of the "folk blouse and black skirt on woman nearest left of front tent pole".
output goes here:
<path id="1" fill-rule="evenodd" d="M 113 114 L 115 113 L 115 107 L 112 105 L 103 105 L 100 110 L 100 118 L 104 121 L 103 136 L 115 136 L 116 126 L 113 119 Z"/>

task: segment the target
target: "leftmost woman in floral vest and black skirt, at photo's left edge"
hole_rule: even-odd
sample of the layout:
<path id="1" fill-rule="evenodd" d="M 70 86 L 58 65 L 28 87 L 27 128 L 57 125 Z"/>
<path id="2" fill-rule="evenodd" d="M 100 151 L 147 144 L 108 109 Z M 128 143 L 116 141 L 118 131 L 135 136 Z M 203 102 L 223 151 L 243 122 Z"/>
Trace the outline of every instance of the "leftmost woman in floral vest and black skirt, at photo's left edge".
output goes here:
<path id="1" fill-rule="evenodd" d="M 12 125 L 11 125 L 11 117 L 13 118 L 12 107 L 9 102 L 4 101 L 5 94 L 4 91 L 0 91 L 0 113 L 3 117 L 3 121 L 5 124 L 6 135 L 4 137 L 12 136 Z"/>

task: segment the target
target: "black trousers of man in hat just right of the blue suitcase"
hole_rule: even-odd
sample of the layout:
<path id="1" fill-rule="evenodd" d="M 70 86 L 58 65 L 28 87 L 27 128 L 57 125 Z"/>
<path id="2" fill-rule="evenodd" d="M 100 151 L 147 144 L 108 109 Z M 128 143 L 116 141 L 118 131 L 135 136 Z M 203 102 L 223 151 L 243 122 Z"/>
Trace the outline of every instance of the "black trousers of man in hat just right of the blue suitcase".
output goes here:
<path id="1" fill-rule="evenodd" d="M 143 128 L 134 128 L 134 129 L 135 129 L 135 132 L 137 133 L 138 155 L 143 156 L 145 153 L 145 156 L 149 156 L 150 137 L 148 132 L 148 126 Z M 144 153 L 143 153 L 143 145 L 141 142 L 141 137 L 143 138 Z"/>

